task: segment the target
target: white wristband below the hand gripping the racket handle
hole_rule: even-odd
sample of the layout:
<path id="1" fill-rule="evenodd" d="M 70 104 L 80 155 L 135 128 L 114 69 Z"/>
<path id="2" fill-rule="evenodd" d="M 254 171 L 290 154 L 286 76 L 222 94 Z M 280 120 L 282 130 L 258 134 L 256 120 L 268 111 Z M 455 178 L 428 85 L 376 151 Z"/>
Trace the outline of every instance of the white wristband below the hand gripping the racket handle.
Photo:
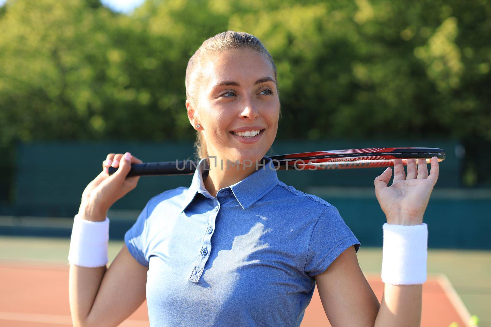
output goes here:
<path id="1" fill-rule="evenodd" d="M 109 218 L 102 222 L 73 220 L 68 261 L 82 267 L 104 267 L 108 263 Z"/>

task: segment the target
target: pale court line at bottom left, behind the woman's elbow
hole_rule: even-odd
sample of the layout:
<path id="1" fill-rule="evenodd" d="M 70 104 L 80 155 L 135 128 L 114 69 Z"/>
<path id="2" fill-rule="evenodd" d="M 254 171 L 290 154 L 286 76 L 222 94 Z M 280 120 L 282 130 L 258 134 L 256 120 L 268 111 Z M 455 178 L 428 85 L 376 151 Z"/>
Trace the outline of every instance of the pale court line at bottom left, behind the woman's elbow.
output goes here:
<path id="1" fill-rule="evenodd" d="M 29 323 L 55 324 L 72 326 L 70 316 L 50 315 L 44 313 L 21 313 L 21 312 L 2 312 L 0 320 L 23 321 Z M 125 320 L 119 327 L 148 327 L 149 322 L 144 320 Z"/>

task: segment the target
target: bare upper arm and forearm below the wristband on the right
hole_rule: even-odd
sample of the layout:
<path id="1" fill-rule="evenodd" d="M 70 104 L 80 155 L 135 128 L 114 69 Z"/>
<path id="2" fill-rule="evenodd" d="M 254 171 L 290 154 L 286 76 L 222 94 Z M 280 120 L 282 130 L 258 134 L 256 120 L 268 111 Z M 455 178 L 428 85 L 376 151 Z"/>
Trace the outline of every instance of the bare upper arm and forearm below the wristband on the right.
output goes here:
<path id="1" fill-rule="evenodd" d="M 420 325 L 422 285 L 385 284 L 379 303 L 361 272 L 353 246 L 314 277 L 332 327 Z"/>

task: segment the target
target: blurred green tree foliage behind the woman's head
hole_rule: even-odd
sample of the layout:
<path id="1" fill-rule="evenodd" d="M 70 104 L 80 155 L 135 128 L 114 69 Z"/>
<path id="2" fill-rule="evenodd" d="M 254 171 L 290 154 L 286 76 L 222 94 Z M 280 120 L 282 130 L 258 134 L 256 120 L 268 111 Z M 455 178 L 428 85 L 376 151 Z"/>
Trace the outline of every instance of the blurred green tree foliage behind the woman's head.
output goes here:
<path id="1" fill-rule="evenodd" d="M 98 0 L 7 0 L 0 147 L 194 138 L 187 63 L 227 29 L 273 55 L 278 138 L 491 141 L 490 17 L 486 0 L 147 0 L 130 15 Z"/>

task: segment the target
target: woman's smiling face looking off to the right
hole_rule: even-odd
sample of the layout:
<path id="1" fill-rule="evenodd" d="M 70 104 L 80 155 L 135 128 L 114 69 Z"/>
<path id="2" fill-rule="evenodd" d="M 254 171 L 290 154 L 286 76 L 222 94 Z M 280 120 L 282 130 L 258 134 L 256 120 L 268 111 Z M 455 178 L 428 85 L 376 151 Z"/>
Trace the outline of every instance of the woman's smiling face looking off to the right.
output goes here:
<path id="1" fill-rule="evenodd" d="M 208 155 L 224 160 L 223 167 L 226 160 L 255 163 L 270 149 L 278 127 L 273 68 L 257 51 L 228 50 L 211 56 L 203 75 L 198 108 L 190 121 L 202 126 Z"/>

